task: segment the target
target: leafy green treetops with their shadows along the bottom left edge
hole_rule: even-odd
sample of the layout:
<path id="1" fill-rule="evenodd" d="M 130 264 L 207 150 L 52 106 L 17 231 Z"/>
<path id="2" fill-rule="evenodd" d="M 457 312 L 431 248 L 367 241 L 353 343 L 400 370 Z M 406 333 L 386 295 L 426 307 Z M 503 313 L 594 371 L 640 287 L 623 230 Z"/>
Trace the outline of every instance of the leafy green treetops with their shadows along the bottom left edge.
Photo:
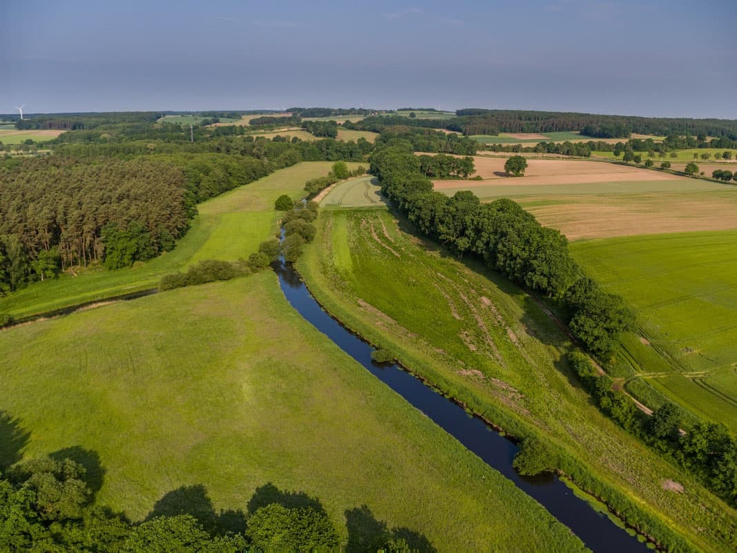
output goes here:
<path id="1" fill-rule="evenodd" d="M 101 484 L 72 459 L 42 457 L 13 465 L 0 475 L 0 549 L 245 553 L 336 551 L 343 545 L 318 498 L 270 483 L 256 488 L 243 508 L 220 512 L 203 486 L 183 486 L 164 495 L 139 523 L 95 504 Z M 424 536 L 390 529 L 366 506 L 348 509 L 345 515 L 353 550 L 434 551 Z"/>

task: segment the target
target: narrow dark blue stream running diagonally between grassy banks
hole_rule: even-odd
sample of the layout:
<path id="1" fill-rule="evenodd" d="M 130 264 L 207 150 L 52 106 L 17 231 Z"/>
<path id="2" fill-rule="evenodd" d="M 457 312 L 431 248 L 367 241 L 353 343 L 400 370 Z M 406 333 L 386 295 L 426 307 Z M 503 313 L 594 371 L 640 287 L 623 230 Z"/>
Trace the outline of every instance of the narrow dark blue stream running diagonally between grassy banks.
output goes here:
<path id="1" fill-rule="evenodd" d="M 466 448 L 481 457 L 531 497 L 562 524 L 565 524 L 596 553 L 650 551 L 636 536 L 629 535 L 609 518 L 579 499 L 557 476 L 523 477 L 512 468 L 517 445 L 492 431 L 478 417 L 470 417 L 461 406 L 430 389 L 421 380 L 397 365 L 378 366 L 371 361 L 374 348 L 329 316 L 312 297 L 299 274 L 289 263 L 274 262 L 279 285 L 304 319 L 338 344 L 348 355 L 362 364 L 371 374 L 387 384 L 411 405 L 425 413 L 441 428 L 458 439 Z"/>

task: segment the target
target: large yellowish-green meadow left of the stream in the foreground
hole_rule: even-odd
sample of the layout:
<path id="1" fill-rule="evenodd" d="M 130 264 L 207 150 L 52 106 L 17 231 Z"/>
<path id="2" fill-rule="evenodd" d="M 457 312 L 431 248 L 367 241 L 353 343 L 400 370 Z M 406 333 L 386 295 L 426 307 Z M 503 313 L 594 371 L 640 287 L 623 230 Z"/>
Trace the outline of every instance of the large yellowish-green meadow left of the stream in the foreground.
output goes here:
<path id="1" fill-rule="evenodd" d="M 304 321 L 270 271 L 5 330 L 0 368 L 24 455 L 97 454 L 97 504 L 134 521 L 168 494 L 245 510 L 272 483 L 318 498 L 343 538 L 346 511 L 366 505 L 444 551 L 581 549 Z"/>

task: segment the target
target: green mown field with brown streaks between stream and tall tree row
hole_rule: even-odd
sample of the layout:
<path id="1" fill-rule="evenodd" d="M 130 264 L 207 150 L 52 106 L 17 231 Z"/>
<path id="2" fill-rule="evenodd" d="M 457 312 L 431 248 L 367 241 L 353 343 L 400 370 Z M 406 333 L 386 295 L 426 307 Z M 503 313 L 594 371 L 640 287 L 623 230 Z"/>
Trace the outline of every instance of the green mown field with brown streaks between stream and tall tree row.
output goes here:
<path id="1" fill-rule="evenodd" d="M 402 232 L 380 208 L 324 210 L 298 269 L 350 328 L 512 434 L 545 434 L 563 465 L 585 465 L 699 549 L 736 545 L 737 513 L 600 414 L 562 358 L 570 344 L 505 279 Z"/>

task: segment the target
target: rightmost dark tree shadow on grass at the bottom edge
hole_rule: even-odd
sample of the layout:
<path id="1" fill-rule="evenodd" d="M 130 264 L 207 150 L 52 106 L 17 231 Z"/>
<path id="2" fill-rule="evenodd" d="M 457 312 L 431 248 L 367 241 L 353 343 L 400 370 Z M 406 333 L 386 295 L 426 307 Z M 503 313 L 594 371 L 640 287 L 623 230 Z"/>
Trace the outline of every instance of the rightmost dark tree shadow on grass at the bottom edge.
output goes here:
<path id="1" fill-rule="evenodd" d="M 366 505 L 348 509 L 345 515 L 346 528 L 348 529 L 346 552 L 348 553 L 380 549 L 385 551 L 409 550 L 422 553 L 435 553 L 437 551 L 430 540 L 419 532 L 405 527 L 389 529 L 384 521 L 378 521 L 374 517 L 374 513 Z"/>

